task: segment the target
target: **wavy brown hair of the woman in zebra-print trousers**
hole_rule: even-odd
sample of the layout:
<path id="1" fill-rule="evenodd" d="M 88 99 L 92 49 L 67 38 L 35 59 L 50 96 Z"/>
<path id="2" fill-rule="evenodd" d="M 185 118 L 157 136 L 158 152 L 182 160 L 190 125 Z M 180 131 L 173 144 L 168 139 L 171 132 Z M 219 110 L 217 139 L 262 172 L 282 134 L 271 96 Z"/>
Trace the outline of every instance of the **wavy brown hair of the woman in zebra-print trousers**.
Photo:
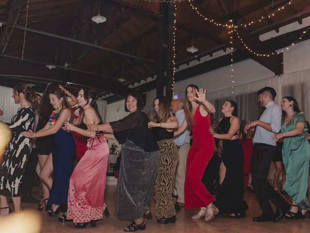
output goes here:
<path id="1" fill-rule="evenodd" d="M 155 100 L 159 100 L 158 111 L 155 111 Z M 156 123 L 166 122 L 170 114 L 170 104 L 169 100 L 165 96 L 160 96 L 154 99 L 153 101 L 153 109 L 150 113 L 150 120 Z"/>

